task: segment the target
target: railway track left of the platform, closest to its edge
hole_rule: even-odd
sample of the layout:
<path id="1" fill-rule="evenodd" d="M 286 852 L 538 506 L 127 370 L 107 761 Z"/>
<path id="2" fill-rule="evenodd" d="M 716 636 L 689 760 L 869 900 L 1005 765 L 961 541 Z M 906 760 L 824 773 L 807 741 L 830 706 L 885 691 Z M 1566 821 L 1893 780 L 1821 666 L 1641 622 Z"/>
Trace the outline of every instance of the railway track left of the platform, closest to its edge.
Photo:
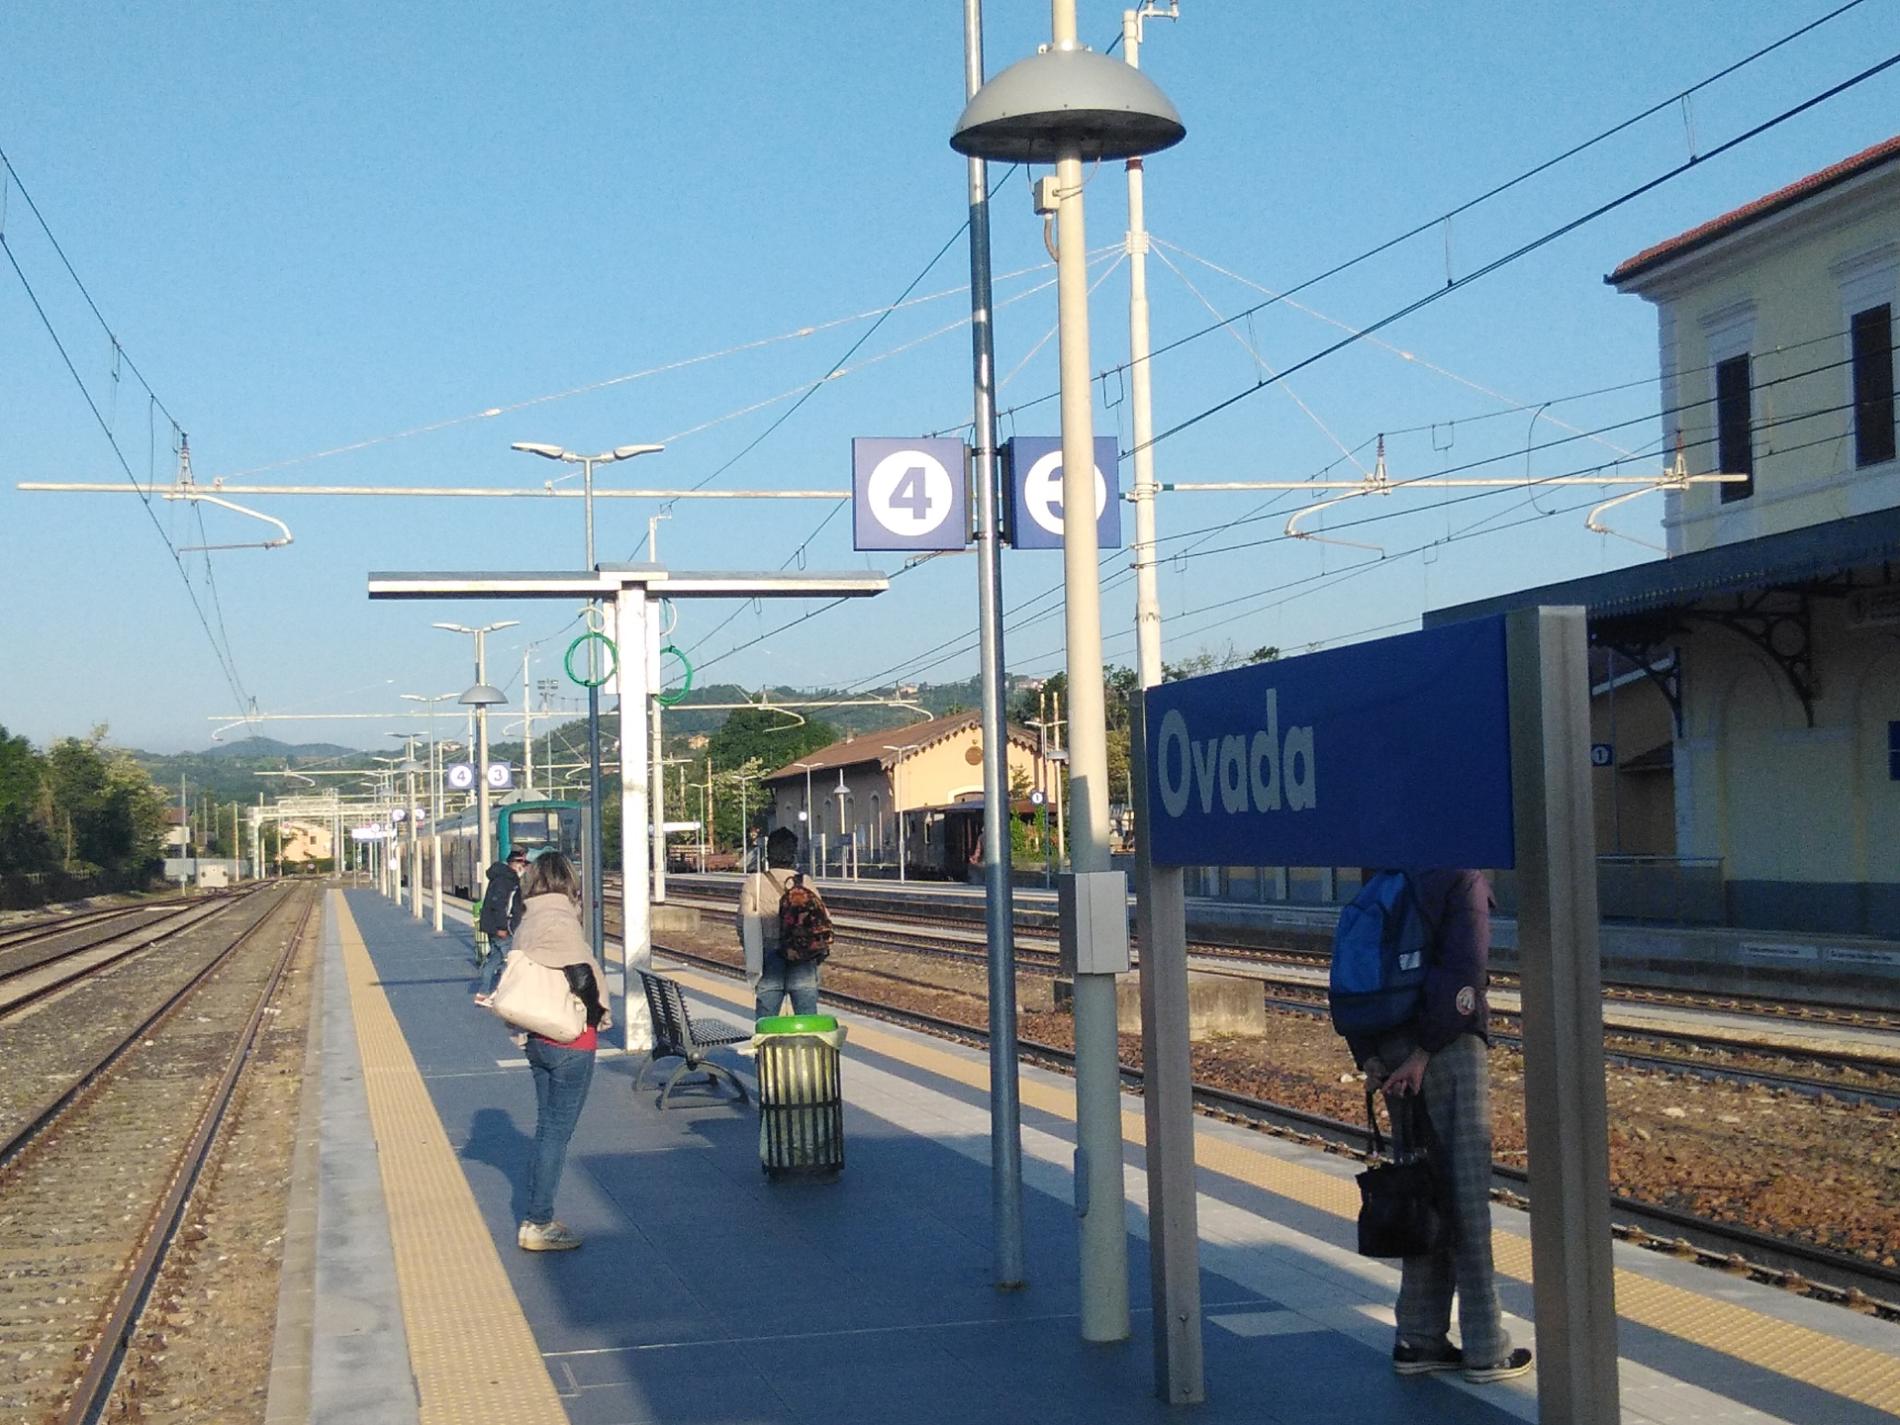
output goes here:
<path id="1" fill-rule="evenodd" d="M 104 1416 L 315 906 L 300 889 L 234 899 L 179 931 L 173 954 L 0 1026 L 10 1056 L 61 1068 L 44 1100 L 4 1104 L 0 1417 Z"/>

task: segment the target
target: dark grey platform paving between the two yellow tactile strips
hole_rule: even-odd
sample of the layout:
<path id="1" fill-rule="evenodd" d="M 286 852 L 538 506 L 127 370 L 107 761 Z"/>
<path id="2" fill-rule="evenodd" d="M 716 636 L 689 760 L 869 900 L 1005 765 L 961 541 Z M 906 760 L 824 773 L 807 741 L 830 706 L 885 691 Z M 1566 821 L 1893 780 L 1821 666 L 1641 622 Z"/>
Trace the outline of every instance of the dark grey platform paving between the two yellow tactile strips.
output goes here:
<path id="1" fill-rule="evenodd" d="M 864 1045 L 847 1051 L 847 1168 L 836 1184 L 768 1184 L 752 1108 L 707 1094 L 674 1098 L 661 1113 L 652 1091 L 631 1091 L 635 1064 L 602 1058 L 557 1201 L 587 1244 L 517 1252 L 532 1085 L 496 1066 L 513 1051 L 467 1001 L 466 937 L 435 937 L 369 893 L 352 904 L 578 1423 L 1535 1417 L 1531 1381 L 1395 1378 L 1387 1353 L 1396 1273 L 1353 1254 L 1351 1224 L 1210 1174 L 1201 1199 L 1210 1398 L 1195 1412 L 1167 1410 L 1151 1395 L 1146 1311 L 1136 1311 L 1129 1341 L 1079 1340 L 1068 1121 L 1024 1113 L 1030 1288 L 998 1292 L 986 1100 Z M 711 1001 L 705 1009 L 730 1013 Z M 940 1041 L 929 1045 L 946 1053 Z M 750 1081 L 745 1060 L 726 1062 Z M 1024 1077 L 1072 1091 L 1036 1070 Z M 1322 1172 L 1355 1170 L 1227 1125 L 1205 1130 L 1244 1136 L 1252 1150 Z M 1130 1281 L 1146 1303 L 1146 1182 L 1138 1155 L 1127 1163 Z M 1702 1290 L 1716 1282 L 1731 1290 L 1727 1279 L 1704 1279 Z M 1505 1282 L 1503 1296 L 1509 1311 L 1528 1313 L 1528 1286 Z M 1522 1319 L 1514 1330 L 1530 1340 Z M 1634 1387 L 1626 1417 L 1638 1425 L 1756 1412 L 1866 1419 L 1811 1387 L 1738 1374 L 1727 1357 L 1699 1358 L 1680 1341 L 1634 1336 L 1624 1378 Z"/>

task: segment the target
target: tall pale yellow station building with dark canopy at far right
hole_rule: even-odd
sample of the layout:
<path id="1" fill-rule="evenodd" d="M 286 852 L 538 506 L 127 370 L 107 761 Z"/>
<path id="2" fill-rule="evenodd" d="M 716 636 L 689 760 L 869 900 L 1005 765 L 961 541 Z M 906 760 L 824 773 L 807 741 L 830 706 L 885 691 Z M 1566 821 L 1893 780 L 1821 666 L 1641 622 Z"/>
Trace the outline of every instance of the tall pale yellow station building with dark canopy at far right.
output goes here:
<path id="1" fill-rule="evenodd" d="M 1668 557 L 1583 604 L 1606 910 L 1900 935 L 1900 137 L 1606 277 L 1657 308 Z M 1623 902 L 1619 906 L 1619 901 Z"/>

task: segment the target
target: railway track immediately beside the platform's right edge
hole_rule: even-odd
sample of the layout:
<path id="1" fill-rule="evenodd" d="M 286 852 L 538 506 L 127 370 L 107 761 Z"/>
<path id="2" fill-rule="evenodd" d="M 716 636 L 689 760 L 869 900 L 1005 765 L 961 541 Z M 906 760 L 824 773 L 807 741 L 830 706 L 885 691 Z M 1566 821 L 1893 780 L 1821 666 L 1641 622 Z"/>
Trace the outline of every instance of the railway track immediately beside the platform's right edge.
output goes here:
<path id="1" fill-rule="evenodd" d="M 720 975 L 741 975 L 737 965 L 716 956 L 682 950 L 673 944 L 656 944 L 654 950 Z M 876 975 L 878 971 L 861 973 Z M 940 990 L 940 986 L 931 988 Z M 990 1041 L 988 1032 L 980 1026 L 863 996 L 840 994 L 834 988 L 825 990 L 825 999 L 874 1018 L 904 1024 L 973 1047 L 988 1047 Z M 1018 1037 L 1018 1045 L 1022 1058 L 1074 1074 L 1075 1056 L 1068 1049 L 1022 1037 Z M 1121 1079 L 1132 1092 L 1142 1091 L 1144 1079 L 1138 1066 L 1123 1064 Z M 1326 1151 L 1341 1151 L 1355 1157 L 1364 1157 L 1370 1151 L 1370 1132 L 1358 1123 L 1199 1083 L 1193 1091 L 1193 1102 L 1201 1113 L 1210 1117 L 1273 1132 L 1307 1146 L 1324 1148 Z M 1492 1195 L 1495 1199 L 1512 1206 L 1528 1206 L 1528 1197 L 1524 1195 L 1528 1174 L 1522 1168 L 1493 1163 L 1492 1182 Z M 1613 1226 L 1615 1235 L 1638 1246 L 1693 1258 L 1725 1271 L 1746 1273 L 1792 1292 L 1830 1300 L 1887 1320 L 1900 1320 L 1900 1269 L 1628 1197 L 1611 1195 L 1611 1210 L 1617 1218 Z"/>

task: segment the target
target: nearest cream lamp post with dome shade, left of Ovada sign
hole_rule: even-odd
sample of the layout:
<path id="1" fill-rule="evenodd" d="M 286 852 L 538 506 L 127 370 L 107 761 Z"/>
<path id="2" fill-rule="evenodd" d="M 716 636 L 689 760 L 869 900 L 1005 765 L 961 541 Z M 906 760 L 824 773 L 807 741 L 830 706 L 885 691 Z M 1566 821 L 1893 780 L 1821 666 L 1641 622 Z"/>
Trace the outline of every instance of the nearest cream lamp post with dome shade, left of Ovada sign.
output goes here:
<path id="1" fill-rule="evenodd" d="M 1066 593 L 1070 770 L 1075 838 L 1068 906 L 1108 906 L 1119 872 L 1108 851 L 1108 733 L 1102 690 L 1102 587 L 1094 513 L 1094 428 L 1089 408 L 1089 277 L 1083 162 L 1151 154 L 1186 137 L 1159 87 L 1075 38 L 1075 0 L 1051 0 L 1051 48 L 990 80 L 963 108 L 950 146 L 1016 163 L 1054 162 L 1056 306 L 1062 388 L 1062 581 Z M 1123 901 L 1125 906 L 1125 891 Z M 1129 1334 L 1129 1231 L 1121 1172 L 1121 1077 L 1115 971 L 1127 933 L 1089 918 L 1064 937 L 1075 954 L 1075 1206 L 1081 1218 L 1081 1334 Z M 1081 923 L 1077 916 L 1075 925 Z M 1119 944 L 1112 944 L 1119 939 Z"/>

